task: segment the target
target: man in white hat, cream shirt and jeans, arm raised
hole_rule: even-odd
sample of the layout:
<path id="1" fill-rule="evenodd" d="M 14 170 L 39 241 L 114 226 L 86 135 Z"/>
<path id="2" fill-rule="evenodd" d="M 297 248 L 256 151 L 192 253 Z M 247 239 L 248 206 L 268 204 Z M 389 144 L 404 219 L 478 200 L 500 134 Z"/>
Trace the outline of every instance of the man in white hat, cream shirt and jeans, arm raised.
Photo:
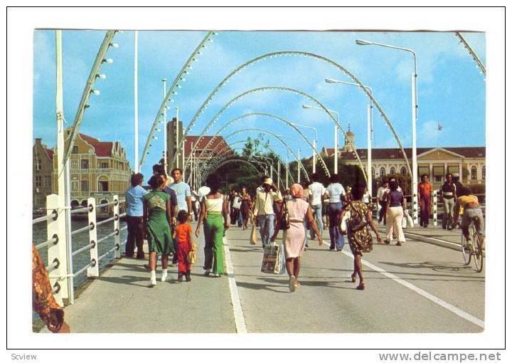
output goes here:
<path id="1" fill-rule="evenodd" d="M 280 203 L 282 196 L 277 187 L 272 183 L 272 179 L 267 178 L 263 181 L 262 190 L 256 192 L 254 215 L 260 225 L 260 236 L 262 246 L 270 242 L 274 235 L 274 202 Z"/>

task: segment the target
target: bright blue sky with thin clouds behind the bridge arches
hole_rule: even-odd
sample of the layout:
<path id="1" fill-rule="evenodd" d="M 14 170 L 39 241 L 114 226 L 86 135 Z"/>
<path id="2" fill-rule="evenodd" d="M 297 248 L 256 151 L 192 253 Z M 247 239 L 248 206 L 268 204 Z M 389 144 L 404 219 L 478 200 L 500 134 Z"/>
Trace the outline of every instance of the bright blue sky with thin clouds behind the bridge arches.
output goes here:
<path id="1" fill-rule="evenodd" d="M 149 135 L 152 122 L 161 105 L 162 78 L 174 80 L 183 63 L 206 35 L 204 31 L 139 31 L 139 155 Z M 97 49 L 105 31 L 63 31 L 64 113 L 73 123 L 80 96 Z M 485 63 L 485 34 L 464 33 L 466 40 Z M 485 145 L 485 80 L 476 63 L 454 38 L 453 33 L 403 32 L 321 32 L 321 31 L 226 31 L 220 32 L 193 63 L 172 105 L 180 107 L 185 126 L 215 86 L 241 63 L 274 51 L 307 51 L 331 58 L 373 88 L 376 100 L 395 126 L 405 147 L 411 146 L 411 81 L 412 56 L 378 46 L 357 46 L 355 40 L 389 43 L 412 48 L 418 56 L 417 146 L 482 146 Z M 80 132 L 103 141 L 120 140 L 134 165 L 134 105 L 132 31 L 118 33 L 114 41 L 119 48 L 110 48 L 107 56 L 112 64 L 102 65 L 106 80 L 98 79 L 80 127 Z M 33 137 L 53 147 L 55 126 L 55 40 L 53 31 L 34 33 Z M 311 58 L 278 57 L 255 63 L 215 95 L 206 112 L 196 122 L 191 135 L 198 135 L 228 100 L 262 86 L 297 88 L 313 95 L 326 107 L 340 114 L 343 127 L 351 125 L 356 146 L 366 147 L 366 96 L 348 85 L 331 85 L 324 78 L 349 80 L 340 70 Z M 268 91 L 253 93 L 223 113 L 210 133 L 225 122 L 248 112 L 268 112 L 292 122 L 311 125 L 319 130 L 319 148 L 333 147 L 333 126 L 318 110 L 304 110 L 307 101 L 292 93 Z M 169 119 L 174 109 L 168 111 Z M 437 123 L 443 126 L 437 131 Z M 383 120 L 374 113 L 375 147 L 396 147 Z M 279 122 L 245 119 L 228 127 L 223 135 L 240 128 L 261 127 L 277 135 L 292 135 L 289 127 Z M 303 130 L 312 137 L 311 130 Z M 255 132 L 239 134 L 231 141 Z M 163 150 L 163 135 L 152 142 L 142 172 L 150 174 L 151 165 Z M 229 140 L 228 140 L 229 141 Z M 293 149 L 299 142 L 286 139 Z M 272 144 L 278 142 L 271 141 Z M 341 142 L 343 143 L 343 142 Z M 282 149 L 277 152 L 283 154 Z M 302 142 L 302 154 L 310 154 Z"/>

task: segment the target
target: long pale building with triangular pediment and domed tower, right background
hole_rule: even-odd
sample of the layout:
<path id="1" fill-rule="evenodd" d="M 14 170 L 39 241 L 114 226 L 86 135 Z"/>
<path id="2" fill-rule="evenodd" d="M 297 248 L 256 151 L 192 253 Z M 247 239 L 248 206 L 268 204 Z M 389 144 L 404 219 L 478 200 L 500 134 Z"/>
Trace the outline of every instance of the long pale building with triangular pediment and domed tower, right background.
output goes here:
<path id="1" fill-rule="evenodd" d="M 355 144 L 355 135 L 350 130 L 346 133 Z M 367 149 L 357 149 L 359 158 L 366 169 Z M 372 149 L 372 176 L 384 177 L 393 174 L 407 174 L 407 167 L 399 148 Z M 485 184 L 486 148 L 485 147 L 418 147 L 418 178 L 422 174 L 430 176 L 435 187 L 440 186 L 447 173 L 459 173 L 463 184 Z M 411 160 L 412 149 L 405 148 L 407 159 Z M 322 157 L 334 157 L 334 148 L 323 148 Z M 353 149 L 348 140 L 338 149 L 339 162 L 357 164 Z"/>

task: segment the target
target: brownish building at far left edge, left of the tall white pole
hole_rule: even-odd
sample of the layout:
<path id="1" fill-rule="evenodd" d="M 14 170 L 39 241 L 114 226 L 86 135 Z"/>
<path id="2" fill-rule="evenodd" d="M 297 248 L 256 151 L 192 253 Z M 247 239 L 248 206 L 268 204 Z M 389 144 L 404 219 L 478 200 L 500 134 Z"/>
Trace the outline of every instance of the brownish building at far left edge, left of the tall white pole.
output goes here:
<path id="1" fill-rule="evenodd" d="M 52 194 L 53 151 L 36 139 L 32 148 L 33 154 L 33 208 L 46 207 L 46 196 Z"/>

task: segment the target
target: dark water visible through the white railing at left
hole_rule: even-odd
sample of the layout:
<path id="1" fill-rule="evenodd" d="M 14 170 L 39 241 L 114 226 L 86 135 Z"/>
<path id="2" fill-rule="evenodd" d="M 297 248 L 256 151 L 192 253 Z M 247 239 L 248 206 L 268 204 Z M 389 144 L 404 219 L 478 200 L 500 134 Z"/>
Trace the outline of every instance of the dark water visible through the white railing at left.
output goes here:
<path id="1" fill-rule="evenodd" d="M 78 228 L 82 228 L 87 226 L 88 222 L 87 220 L 83 221 L 71 221 L 72 231 L 75 231 Z M 123 228 L 126 226 L 126 222 L 121 221 L 120 228 Z M 100 226 L 97 226 L 97 238 L 100 239 L 107 234 L 110 234 L 114 231 L 114 222 L 110 221 L 105 224 L 102 224 Z M 44 242 L 48 239 L 48 236 L 46 235 L 46 223 L 41 222 L 33 225 L 32 227 L 32 239 L 34 243 L 39 244 L 41 242 Z M 124 229 L 120 233 L 120 241 L 123 243 L 126 241 L 127 238 L 127 230 Z M 81 233 L 75 234 L 72 238 L 72 247 L 73 251 L 78 250 L 78 248 L 81 248 L 89 243 L 89 231 L 83 231 Z M 114 247 L 114 236 L 107 238 L 105 241 L 101 241 L 98 243 L 98 256 L 102 256 L 102 254 L 106 253 L 110 248 Z M 122 252 L 124 251 L 124 245 L 121 247 Z M 43 247 L 38 250 L 39 254 L 41 255 L 41 258 L 43 258 L 43 261 L 46 265 L 48 265 L 48 247 Z M 114 258 L 114 251 L 110 252 L 100 260 L 100 270 L 105 267 L 108 263 L 112 261 Z M 82 251 L 78 253 L 77 256 L 73 256 L 73 271 L 78 271 L 80 268 L 85 267 L 90 263 L 90 252 L 89 250 Z M 80 273 L 80 275 L 76 276 L 73 279 L 75 290 L 77 288 L 80 288 L 81 285 L 83 285 L 87 281 L 87 270 Z M 33 321 L 40 321 L 38 315 L 33 312 Z"/>

